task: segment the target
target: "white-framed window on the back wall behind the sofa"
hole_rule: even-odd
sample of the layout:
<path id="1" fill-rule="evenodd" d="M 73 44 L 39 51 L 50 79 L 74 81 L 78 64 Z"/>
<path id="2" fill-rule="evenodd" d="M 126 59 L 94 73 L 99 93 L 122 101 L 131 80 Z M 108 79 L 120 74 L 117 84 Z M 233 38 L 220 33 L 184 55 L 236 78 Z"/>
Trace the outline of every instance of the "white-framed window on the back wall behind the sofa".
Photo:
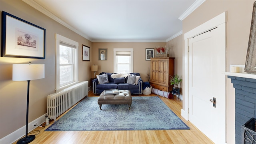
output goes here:
<path id="1" fill-rule="evenodd" d="M 114 72 L 133 72 L 133 48 L 114 48 Z"/>

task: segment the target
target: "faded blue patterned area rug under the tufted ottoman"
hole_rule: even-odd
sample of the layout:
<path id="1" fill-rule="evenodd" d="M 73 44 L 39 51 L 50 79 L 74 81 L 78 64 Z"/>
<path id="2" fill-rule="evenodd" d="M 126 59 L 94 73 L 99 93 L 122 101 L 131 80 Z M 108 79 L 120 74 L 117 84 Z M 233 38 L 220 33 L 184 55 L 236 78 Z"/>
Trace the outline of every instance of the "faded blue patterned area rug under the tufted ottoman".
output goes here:
<path id="1" fill-rule="evenodd" d="M 158 96 L 132 96 L 128 105 L 103 104 L 98 97 L 84 98 L 46 131 L 188 130 Z"/>

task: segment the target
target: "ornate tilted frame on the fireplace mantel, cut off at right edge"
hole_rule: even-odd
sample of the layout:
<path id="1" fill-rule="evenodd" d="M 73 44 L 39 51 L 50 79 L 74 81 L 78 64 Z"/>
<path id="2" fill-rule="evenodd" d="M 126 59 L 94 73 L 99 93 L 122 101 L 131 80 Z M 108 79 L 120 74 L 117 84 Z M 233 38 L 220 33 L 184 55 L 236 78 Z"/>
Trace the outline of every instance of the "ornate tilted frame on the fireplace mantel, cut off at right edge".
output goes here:
<path id="1" fill-rule="evenodd" d="M 246 54 L 246 62 L 244 71 L 248 74 L 256 74 L 256 2 L 253 4 L 252 22 L 250 28 L 250 36 Z"/>

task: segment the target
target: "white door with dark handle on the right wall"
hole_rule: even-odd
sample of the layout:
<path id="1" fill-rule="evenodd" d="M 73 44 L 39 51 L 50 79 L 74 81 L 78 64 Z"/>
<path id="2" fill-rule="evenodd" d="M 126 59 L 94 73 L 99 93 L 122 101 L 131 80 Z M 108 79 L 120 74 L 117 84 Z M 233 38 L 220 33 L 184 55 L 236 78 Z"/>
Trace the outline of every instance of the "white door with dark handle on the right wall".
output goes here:
<path id="1" fill-rule="evenodd" d="M 225 143 L 226 134 L 224 27 L 222 24 L 188 40 L 188 119 L 216 144 Z M 223 42 L 224 47 L 220 46 Z M 213 97 L 215 108 L 210 102 Z"/>

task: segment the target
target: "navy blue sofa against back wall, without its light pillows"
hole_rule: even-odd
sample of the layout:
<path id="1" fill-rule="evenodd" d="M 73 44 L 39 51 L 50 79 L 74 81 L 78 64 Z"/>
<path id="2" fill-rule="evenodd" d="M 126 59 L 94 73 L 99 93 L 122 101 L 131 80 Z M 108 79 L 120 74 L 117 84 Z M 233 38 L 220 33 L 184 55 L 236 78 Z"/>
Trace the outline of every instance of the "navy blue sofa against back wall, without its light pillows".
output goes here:
<path id="1" fill-rule="evenodd" d="M 114 84 L 114 78 L 112 78 L 111 75 L 116 73 L 101 72 L 100 75 L 102 74 L 108 74 L 109 83 L 99 84 L 97 78 L 92 80 L 94 94 L 101 94 L 104 90 L 110 90 L 110 89 L 130 90 L 131 94 L 142 94 L 143 80 L 141 78 L 138 80 L 138 84 L 136 85 L 127 84 L 126 83 L 127 78 L 125 78 L 126 80 L 125 83 Z M 140 76 L 140 73 L 130 73 L 130 74 L 133 74 L 135 76 Z"/>

